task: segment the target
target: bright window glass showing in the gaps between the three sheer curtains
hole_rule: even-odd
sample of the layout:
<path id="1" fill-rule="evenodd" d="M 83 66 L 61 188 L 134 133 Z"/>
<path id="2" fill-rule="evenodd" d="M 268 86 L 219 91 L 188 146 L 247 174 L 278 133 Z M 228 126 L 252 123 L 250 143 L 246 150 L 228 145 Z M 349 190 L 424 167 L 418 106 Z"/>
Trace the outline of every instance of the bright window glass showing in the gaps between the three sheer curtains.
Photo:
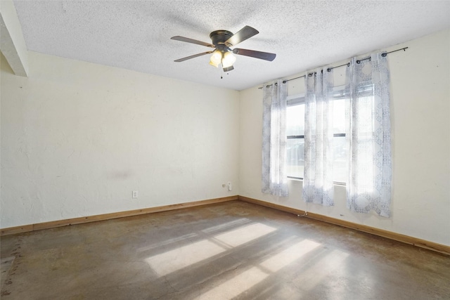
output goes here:
<path id="1" fill-rule="evenodd" d="M 333 180 L 345 183 L 347 179 L 347 150 L 345 145 L 344 86 L 335 88 L 333 96 L 334 164 Z M 286 173 L 288 178 L 303 178 L 304 170 L 304 96 L 288 97 L 286 110 Z"/>

